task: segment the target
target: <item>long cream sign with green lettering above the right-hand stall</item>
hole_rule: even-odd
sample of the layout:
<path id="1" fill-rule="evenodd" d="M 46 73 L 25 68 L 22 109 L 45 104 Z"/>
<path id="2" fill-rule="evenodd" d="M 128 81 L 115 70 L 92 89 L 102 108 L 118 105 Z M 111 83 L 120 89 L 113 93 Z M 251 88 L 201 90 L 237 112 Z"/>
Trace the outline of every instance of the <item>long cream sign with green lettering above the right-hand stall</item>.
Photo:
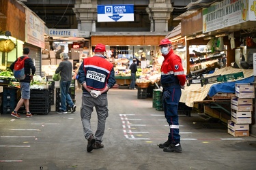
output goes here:
<path id="1" fill-rule="evenodd" d="M 256 20 L 256 1 L 224 0 L 203 10 L 203 33 Z"/>

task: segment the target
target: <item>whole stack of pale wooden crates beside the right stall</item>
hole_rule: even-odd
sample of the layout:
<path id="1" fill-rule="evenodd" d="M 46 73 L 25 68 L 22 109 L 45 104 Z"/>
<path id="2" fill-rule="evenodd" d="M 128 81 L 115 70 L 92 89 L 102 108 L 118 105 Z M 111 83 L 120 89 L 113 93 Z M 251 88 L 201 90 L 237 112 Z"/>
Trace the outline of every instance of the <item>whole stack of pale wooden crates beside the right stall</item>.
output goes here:
<path id="1" fill-rule="evenodd" d="M 228 121 L 228 133 L 233 136 L 249 136 L 249 124 L 252 122 L 254 86 L 236 84 L 236 97 L 231 97 L 231 120 Z"/>

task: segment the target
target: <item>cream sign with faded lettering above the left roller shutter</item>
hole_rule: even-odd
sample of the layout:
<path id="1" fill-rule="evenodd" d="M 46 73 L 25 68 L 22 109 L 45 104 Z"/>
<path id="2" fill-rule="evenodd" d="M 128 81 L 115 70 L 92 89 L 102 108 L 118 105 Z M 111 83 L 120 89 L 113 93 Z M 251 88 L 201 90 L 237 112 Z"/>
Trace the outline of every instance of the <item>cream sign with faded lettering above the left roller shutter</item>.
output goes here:
<path id="1" fill-rule="evenodd" d="M 26 42 L 44 48 L 44 22 L 26 9 Z"/>

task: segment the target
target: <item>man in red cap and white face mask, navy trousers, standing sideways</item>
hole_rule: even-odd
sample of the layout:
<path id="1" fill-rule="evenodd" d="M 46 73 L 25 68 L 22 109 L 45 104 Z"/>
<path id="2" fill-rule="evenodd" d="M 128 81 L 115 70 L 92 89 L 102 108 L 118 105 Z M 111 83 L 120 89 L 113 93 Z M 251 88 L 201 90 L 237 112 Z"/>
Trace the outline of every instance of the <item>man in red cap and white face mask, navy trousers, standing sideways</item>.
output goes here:
<path id="1" fill-rule="evenodd" d="M 165 118 L 169 124 L 170 132 L 168 140 L 160 143 L 159 148 L 164 152 L 182 152 L 180 145 L 179 117 L 177 115 L 178 104 L 182 89 L 185 88 L 186 75 L 182 67 L 182 59 L 174 54 L 169 39 L 162 39 L 158 45 L 161 48 L 165 60 L 161 67 L 161 84 L 163 87 L 162 101 Z"/>

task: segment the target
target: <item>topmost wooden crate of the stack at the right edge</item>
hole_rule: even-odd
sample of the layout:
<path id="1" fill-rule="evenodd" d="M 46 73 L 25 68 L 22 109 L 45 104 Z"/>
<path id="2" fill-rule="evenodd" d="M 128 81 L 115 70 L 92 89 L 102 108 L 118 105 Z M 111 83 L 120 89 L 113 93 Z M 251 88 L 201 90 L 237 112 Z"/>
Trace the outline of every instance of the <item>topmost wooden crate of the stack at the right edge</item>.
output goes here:
<path id="1" fill-rule="evenodd" d="M 253 85 L 245 83 L 236 83 L 236 97 L 255 98 L 255 88 Z"/>

